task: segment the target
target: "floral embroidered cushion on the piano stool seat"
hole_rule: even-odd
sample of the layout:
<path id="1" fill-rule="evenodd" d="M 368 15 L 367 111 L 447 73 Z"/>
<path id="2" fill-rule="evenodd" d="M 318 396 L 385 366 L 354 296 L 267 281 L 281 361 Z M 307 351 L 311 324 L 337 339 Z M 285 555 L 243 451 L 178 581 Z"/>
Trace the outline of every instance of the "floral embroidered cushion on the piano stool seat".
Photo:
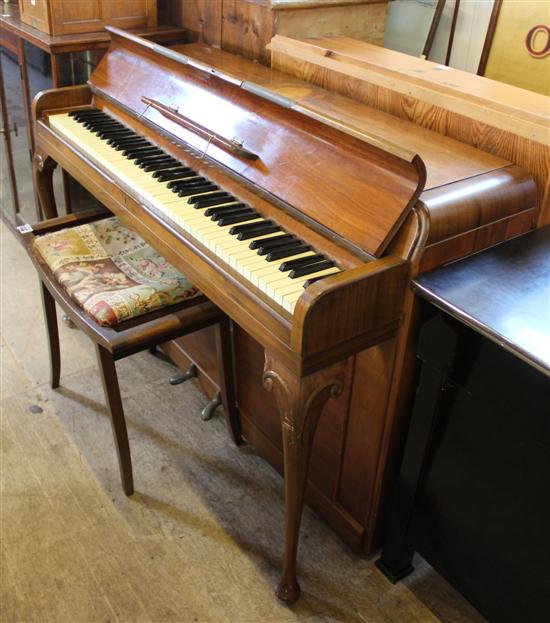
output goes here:
<path id="1" fill-rule="evenodd" d="M 200 294 L 116 217 L 37 237 L 34 245 L 69 296 L 103 326 Z"/>

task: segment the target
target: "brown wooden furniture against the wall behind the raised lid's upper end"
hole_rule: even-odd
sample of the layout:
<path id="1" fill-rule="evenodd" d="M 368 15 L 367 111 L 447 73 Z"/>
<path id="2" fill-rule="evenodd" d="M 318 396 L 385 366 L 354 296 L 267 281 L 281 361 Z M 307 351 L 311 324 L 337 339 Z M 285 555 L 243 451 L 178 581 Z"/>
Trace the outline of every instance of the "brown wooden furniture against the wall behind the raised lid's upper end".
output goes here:
<path id="1" fill-rule="evenodd" d="M 388 0 L 171 0 L 170 23 L 190 40 L 269 65 L 276 35 L 353 37 L 384 44 Z"/>

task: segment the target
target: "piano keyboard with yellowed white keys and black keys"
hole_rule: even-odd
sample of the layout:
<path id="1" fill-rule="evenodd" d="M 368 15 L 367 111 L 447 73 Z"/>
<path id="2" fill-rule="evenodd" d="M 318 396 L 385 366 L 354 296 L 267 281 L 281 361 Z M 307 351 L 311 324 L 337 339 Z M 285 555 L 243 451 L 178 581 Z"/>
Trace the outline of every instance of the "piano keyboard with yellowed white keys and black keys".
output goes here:
<path id="1" fill-rule="evenodd" d="M 293 313 L 304 288 L 340 272 L 311 245 L 98 109 L 49 117 L 139 200 L 161 212 Z"/>

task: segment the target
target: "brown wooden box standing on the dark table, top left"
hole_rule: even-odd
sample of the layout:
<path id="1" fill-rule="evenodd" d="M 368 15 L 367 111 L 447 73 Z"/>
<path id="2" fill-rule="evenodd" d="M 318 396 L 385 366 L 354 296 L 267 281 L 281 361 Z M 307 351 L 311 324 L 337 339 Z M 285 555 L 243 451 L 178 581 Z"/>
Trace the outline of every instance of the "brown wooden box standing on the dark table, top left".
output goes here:
<path id="1" fill-rule="evenodd" d="M 49 35 L 119 28 L 154 28 L 156 0 L 19 0 L 21 21 Z"/>

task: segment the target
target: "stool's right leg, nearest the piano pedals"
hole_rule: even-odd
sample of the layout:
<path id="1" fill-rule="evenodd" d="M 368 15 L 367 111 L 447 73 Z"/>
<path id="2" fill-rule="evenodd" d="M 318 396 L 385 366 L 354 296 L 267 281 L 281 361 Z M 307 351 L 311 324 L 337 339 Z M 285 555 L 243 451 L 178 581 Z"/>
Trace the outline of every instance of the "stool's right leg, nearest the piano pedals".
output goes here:
<path id="1" fill-rule="evenodd" d="M 220 376 L 220 393 L 224 406 L 225 423 L 236 445 L 243 443 L 241 425 L 237 411 L 235 392 L 235 368 L 233 365 L 233 340 L 231 321 L 227 316 L 216 325 L 216 356 Z"/>

